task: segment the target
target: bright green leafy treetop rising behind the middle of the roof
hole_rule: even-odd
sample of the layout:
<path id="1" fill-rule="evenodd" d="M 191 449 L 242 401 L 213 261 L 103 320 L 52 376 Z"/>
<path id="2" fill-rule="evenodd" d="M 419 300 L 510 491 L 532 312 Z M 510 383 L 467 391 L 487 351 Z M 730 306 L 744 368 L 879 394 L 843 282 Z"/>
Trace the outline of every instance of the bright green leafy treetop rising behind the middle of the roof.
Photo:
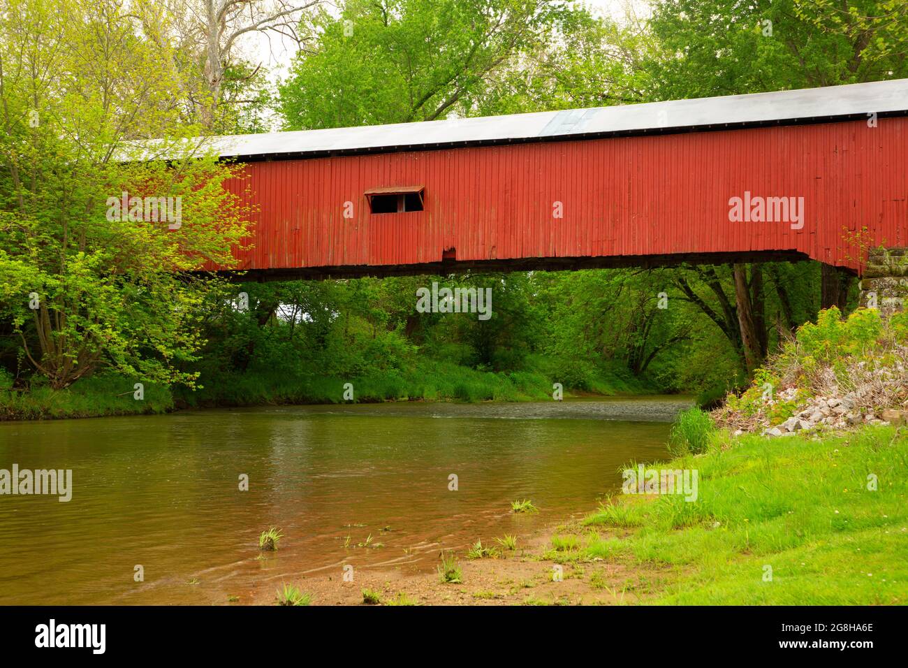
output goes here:
<path id="1" fill-rule="evenodd" d="M 348 0 L 301 25 L 280 88 L 290 130 L 472 115 L 496 76 L 548 44 L 556 0 Z"/>

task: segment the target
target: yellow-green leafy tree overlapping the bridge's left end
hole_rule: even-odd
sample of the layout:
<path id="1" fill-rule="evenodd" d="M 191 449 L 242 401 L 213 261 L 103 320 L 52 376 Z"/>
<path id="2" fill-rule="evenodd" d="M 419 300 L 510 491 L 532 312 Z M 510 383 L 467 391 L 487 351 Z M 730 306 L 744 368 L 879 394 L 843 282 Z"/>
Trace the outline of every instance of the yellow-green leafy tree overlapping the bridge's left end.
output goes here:
<path id="1" fill-rule="evenodd" d="M 172 58 L 114 0 L 0 13 L 0 320 L 55 388 L 99 366 L 194 381 L 207 288 L 189 273 L 232 263 L 245 228 L 235 168 L 184 155 L 198 128 L 173 105 Z M 172 162 L 141 159 L 148 135 Z"/>

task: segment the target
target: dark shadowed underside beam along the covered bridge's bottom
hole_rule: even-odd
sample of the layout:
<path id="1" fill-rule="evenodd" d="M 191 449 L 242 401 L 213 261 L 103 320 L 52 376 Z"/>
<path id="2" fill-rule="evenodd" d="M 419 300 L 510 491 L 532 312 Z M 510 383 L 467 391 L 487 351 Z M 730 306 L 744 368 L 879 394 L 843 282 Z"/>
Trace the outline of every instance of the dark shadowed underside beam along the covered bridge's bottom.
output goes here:
<path id="1" fill-rule="evenodd" d="M 618 269 L 673 267 L 682 264 L 731 264 L 751 262 L 803 262 L 811 259 L 798 251 L 749 251 L 739 253 L 607 255 L 598 257 L 521 257 L 501 260 L 459 261 L 454 257 L 436 263 L 380 264 L 360 266 L 293 267 L 219 271 L 231 281 L 292 281 L 363 276 L 445 275 L 466 272 L 575 271 L 578 269 Z M 843 267 L 843 271 L 850 271 Z"/>

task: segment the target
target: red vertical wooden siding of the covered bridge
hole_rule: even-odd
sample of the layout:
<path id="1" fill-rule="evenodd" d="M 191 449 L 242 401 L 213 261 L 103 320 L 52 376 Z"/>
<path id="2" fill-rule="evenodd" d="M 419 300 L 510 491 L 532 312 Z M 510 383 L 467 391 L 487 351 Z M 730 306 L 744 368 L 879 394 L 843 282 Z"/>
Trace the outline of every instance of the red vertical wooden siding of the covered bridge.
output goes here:
<path id="1" fill-rule="evenodd" d="M 254 162 L 232 188 L 260 209 L 244 269 L 437 263 L 450 248 L 458 261 L 800 251 L 856 269 L 845 230 L 908 245 L 906 166 L 896 117 Z M 411 184 L 424 211 L 370 214 L 366 191 Z M 804 227 L 729 222 L 745 191 L 803 196 Z"/>

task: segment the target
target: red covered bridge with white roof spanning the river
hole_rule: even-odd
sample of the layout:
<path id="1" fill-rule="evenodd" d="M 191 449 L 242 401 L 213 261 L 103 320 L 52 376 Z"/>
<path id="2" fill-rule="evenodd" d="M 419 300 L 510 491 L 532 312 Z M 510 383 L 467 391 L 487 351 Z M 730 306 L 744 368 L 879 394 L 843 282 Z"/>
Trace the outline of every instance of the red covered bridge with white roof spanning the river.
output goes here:
<path id="1" fill-rule="evenodd" d="M 220 137 L 251 276 L 811 257 L 908 245 L 908 79 Z M 735 200 L 734 198 L 738 198 Z"/>

